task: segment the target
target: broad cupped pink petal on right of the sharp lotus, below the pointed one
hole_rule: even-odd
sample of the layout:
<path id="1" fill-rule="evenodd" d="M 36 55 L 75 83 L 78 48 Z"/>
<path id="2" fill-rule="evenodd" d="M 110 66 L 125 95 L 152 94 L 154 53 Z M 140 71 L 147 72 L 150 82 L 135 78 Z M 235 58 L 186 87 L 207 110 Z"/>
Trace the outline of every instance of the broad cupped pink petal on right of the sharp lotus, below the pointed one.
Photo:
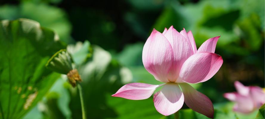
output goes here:
<path id="1" fill-rule="evenodd" d="M 184 62 L 179 78 L 187 83 L 205 82 L 213 77 L 222 64 L 223 59 L 220 55 L 198 52 Z"/>

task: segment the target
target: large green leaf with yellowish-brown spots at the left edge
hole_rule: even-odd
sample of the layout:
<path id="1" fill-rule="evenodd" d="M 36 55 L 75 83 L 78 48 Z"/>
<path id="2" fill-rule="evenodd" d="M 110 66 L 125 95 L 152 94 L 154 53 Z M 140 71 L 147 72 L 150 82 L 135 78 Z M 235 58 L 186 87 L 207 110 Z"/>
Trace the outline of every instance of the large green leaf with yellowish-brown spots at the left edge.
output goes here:
<path id="1" fill-rule="evenodd" d="M 0 118 L 21 118 L 42 99 L 59 76 L 45 64 L 61 48 L 58 35 L 36 21 L 1 21 Z"/>

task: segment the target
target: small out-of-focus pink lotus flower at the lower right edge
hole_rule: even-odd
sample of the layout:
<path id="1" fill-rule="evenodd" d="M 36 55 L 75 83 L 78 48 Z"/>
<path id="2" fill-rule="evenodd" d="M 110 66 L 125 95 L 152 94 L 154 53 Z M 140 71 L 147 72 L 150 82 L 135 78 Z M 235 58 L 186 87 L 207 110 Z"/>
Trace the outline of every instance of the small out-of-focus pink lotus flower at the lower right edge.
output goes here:
<path id="1" fill-rule="evenodd" d="M 235 102 L 234 111 L 248 114 L 259 109 L 265 103 L 265 93 L 258 86 L 244 86 L 235 82 L 237 92 L 224 93 L 224 97 Z"/>

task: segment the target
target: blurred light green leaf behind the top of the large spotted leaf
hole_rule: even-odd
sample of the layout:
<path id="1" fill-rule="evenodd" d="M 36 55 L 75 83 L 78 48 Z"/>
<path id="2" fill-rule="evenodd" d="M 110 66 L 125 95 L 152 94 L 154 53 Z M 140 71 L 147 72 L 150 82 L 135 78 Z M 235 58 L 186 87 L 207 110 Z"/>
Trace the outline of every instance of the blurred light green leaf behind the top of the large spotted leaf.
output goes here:
<path id="1" fill-rule="evenodd" d="M 70 43 L 71 24 L 66 18 L 66 13 L 60 8 L 49 6 L 45 3 L 30 1 L 18 5 L 5 4 L 0 7 L 0 19 L 15 20 L 29 18 L 38 21 L 41 26 L 54 30 L 63 42 Z"/>

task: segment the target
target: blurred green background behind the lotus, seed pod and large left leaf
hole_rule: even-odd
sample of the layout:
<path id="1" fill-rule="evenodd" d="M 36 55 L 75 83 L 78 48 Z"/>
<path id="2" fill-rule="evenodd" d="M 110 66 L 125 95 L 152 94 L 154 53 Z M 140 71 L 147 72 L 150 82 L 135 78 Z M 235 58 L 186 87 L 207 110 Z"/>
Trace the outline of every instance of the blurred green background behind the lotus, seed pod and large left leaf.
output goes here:
<path id="1" fill-rule="evenodd" d="M 211 99 L 216 118 L 253 118 L 257 112 L 234 113 L 223 93 L 235 91 L 234 81 L 264 88 L 264 4 L 264 0 L 1 0 L 0 20 L 35 20 L 55 31 L 74 55 L 85 47 L 81 54 L 86 60 L 75 63 L 86 87 L 87 116 L 95 119 L 173 118 L 156 112 L 152 96 L 141 101 L 110 96 L 130 82 L 159 84 L 142 64 L 142 48 L 153 28 L 162 32 L 173 25 L 179 32 L 191 30 L 197 48 L 221 36 L 215 51 L 224 60 L 221 69 L 193 87 Z M 54 82 L 24 119 L 82 117 L 76 89 L 63 75 Z M 187 108 L 184 105 L 181 118 L 206 118 Z"/>

